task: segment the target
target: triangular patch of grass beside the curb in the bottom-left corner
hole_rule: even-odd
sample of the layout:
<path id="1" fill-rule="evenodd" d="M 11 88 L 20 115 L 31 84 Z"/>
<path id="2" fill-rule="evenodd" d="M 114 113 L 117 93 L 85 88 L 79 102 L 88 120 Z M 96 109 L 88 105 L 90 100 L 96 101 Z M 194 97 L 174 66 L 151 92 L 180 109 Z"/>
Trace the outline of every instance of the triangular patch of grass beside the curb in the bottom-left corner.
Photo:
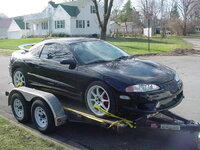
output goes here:
<path id="1" fill-rule="evenodd" d="M 30 132 L 17 127 L 0 118 L 0 149 L 3 150 L 63 150 L 54 143 L 32 135 Z"/>

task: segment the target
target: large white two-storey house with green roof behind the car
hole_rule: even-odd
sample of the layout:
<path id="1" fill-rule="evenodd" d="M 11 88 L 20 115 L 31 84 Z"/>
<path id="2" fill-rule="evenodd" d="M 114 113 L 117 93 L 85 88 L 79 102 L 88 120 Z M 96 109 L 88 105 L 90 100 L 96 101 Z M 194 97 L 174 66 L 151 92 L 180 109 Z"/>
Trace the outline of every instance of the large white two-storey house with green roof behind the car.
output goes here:
<path id="1" fill-rule="evenodd" d="M 99 9 L 102 16 L 103 8 Z M 61 4 L 50 1 L 41 13 L 24 16 L 24 22 L 29 24 L 30 35 L 65 33 L 87 36 L 100 33 L 95 11 L 92 0 L 74 0 Z"/>

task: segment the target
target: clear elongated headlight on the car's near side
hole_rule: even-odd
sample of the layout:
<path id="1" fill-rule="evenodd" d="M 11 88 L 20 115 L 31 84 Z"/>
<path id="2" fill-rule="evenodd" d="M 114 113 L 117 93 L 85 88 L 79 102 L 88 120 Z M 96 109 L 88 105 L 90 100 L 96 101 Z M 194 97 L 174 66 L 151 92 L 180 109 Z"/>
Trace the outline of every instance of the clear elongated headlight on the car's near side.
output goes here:
<path id="1" fill-rule="evenodd" d="M 126 92 L 149 92 L 159 90 L 160 87 L 155 84 L 137 84 L 126 88 Z"/>

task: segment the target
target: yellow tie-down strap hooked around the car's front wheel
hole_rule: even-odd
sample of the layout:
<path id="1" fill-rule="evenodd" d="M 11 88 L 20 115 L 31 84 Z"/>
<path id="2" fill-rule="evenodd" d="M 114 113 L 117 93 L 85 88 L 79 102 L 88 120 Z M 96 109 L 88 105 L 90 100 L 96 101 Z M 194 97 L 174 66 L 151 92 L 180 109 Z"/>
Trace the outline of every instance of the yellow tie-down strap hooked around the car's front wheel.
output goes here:
<path id="1" fill-rule="evenodd" d="M 103 109 L 101 106 L 99 106 L 97 104 L 94 104 L 94 108 L 98 109 L 99 111 L 103 112 L 104 114 L 106 114 L 109 117 L 120 119 L 120 120 L 117 120 L 117 121 L 113 122 L 108 128 L 111 128 L 112 126 L 120 124 L 122 122 L 127 124 L 130 128 L 136 128 L 136 126 L 133 125 L 133 121 L 131 121 L 131 120 L 127 120 L 125 118 L 122 118 L 122 117 L 116 116 L 114 114 L 111 114 L 111 113 L 109 113 L 108 111 L 106 111 L 105 109 Z"/>

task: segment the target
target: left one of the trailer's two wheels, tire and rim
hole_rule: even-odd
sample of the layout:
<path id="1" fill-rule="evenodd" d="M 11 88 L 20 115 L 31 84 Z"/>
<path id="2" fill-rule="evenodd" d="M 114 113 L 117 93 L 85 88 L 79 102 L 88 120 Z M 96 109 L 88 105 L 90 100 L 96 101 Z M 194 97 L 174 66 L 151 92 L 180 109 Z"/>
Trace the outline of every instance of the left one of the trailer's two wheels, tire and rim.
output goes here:
<path id="1" fill-rule="evenodd" d="M 15 118 L 19 122 L 26 123 L 30 120 L 30 104 L 25 100 L 25 98 L 21 94 L 15 93 L 12 95 L 11 107 Z"/>

